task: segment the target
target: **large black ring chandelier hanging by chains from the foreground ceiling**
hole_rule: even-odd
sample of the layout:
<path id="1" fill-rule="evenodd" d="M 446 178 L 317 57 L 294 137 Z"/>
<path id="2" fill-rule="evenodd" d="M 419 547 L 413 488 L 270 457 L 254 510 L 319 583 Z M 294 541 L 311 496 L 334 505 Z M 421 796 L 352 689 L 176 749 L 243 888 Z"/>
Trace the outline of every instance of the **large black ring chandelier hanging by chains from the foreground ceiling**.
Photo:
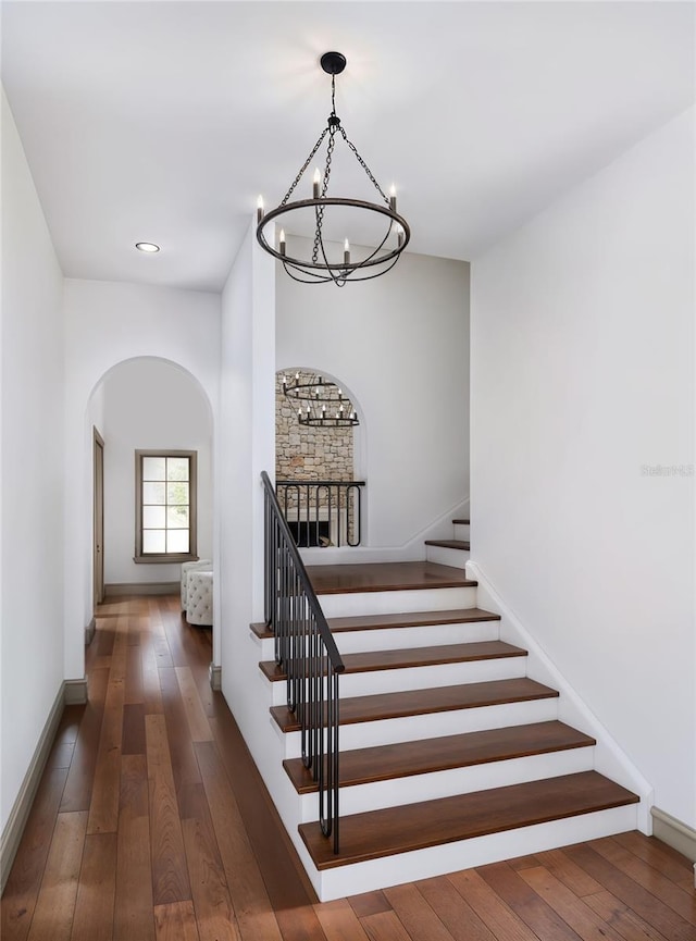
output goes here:
<path id="1" fill-rule="evenodd" d="M 384 194 L 372 171 L 358 153 L 355 145 L 348 139 L 340 120 L 336 115 L 336 75 L 339 75 L 346 67 L 346 57 L 341 55 L 340 52 L 325 52 L 320 61 L 324 72 L 331 75 L 332 108 L 326 127 L 321 133 L 319 140 L 311 149 L 309 157 L 302 164 L 290 188 L 281 200 L 281 203 L 275 209 L 265 212 L 263 200 L 259 197 L 257 238 L 265 251 L 283 262 L 286 272 L 295 281 L 300 281 L 303 284 L 321 284 L 333 281 L 334 284 L 343 287 L 348 281 L 368 281 L 372 277 L 378 277 L 381 274 L 386 274 L 387 271 L 394 268 L 399 256 L 408 245 L 411 231 L 403 216 L 399 215 L 396 211 L 396 189 L 393 186 L 389 196 Z M 314 160 L 327 136 L 328 141 L 324 166 L 322 170 L 319 168 L 314 170 L 311 190 L 312 198 L 290 200 L 304 172 Z M 376 189 L 378 194 L 376 202 L 328 195 L 328 182 L 332 172 L 332 160 L 335 157 L 334 147 L 337 136 L 343 138 L 348 150 L 352 153 L 368 179 Z M 310 237 L 313 237 L 313 245 L 311 257 L 296 258 L 294 255 L 288 253 L 285 228 L 281 228 L 279 231 L 277 248 L 275 244 L 269 243 L 264 230 L 269 222 L 274 220 L 279 222 L 282 216 L 287 216 L 285 225 L 289 226 L 289 213 L 295 212 L 295 218 L 298 219 L 303 214 L 302 210 L 304 214 L 310 213 L 307 231 L 308 234 L 311 231 Z M 366 220 L 370 218 L 370 222 L 372 223 L 369 226 L 370 235 L 365 236 L 365 230 L 362 228 L 359 239 L 361 244 L 365 243 L 370 246 L 376 243 L 376 247 L 358 248 L 353 236 L 353 247 L 351 248 L 348 238 L 349 233 L 345 230 L 339 232 L 340 222 L 337 222 L 337 216 L 339 213 L 344 213 L 344 218 L 348 219 L 346 213 L 350 210 L 358 211 L 361 219 L 364 218 Z M 355 219 L 355 215 L 356 213 L 353 212 L 351 218 Z M 328 234 L 326 233 L 327 227 L 331 230 Z M 299 226 L 299 231 L 301 231 L 301 226 Z M 368 238 L 370 239 L 369 242 Z"/>

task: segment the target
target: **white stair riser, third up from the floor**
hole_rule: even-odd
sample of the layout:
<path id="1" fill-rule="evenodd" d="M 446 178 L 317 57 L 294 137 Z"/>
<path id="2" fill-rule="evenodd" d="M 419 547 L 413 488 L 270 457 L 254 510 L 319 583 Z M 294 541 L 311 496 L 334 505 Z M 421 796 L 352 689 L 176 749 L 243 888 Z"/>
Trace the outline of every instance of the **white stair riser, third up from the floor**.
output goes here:
<path id="1" fill-rule="evenodd" d="M 341 726 L 338 732 L 341 751 L 366 748 L 371 745 L 388 745 L 390 742 L 413 742 L 417 739 L 435 739 L 438 735 L 457 735 L 460 732 L 480 732 L 483 729 L 501 729 L 505 726 L 524 726 L 527 722 L 549 722 L 557 718 L 558 698 L 529 699 L 523 703 L 502 703 L 498 706 L 481 706 L 474 709 L 452 709 L 421 716 L 403 716 L 398 719 L 380 719 L 376 722 L 356 722 Z M 300 733 L 284 735 L 285 758 L 300 755 Z"/>

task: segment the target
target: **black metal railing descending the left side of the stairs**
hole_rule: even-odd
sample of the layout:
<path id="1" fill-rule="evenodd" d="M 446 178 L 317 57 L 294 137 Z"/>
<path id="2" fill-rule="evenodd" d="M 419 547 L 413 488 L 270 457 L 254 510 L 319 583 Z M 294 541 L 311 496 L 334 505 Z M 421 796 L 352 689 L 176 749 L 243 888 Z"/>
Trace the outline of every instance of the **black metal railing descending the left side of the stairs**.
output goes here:
<path id="1" fill-rule="evenodd" d="M 322 832 L 333 834 L 338 853 L 338 677 L 345 666 L 265 471 L 261 481 L 265 623 L 287 677 L 287 707 L 300 726 L 302 763 L 319 785 Z"/>

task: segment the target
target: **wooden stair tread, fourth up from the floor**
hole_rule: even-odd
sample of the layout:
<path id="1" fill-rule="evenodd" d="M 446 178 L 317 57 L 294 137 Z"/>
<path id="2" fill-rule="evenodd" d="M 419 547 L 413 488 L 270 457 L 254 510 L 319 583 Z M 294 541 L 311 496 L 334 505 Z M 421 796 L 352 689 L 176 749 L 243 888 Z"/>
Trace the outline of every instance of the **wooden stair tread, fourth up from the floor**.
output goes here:
<path id="1" fill-rule="evenodd" d="M 472 644 L 440 644 L 433 647 L 409 647 L 396 651 L 362 651 L 341 654 L 346 673 L 370 673 L 376 670 L 399 670 L 408 667 L 432 667 L 443 664 L 468 664 L 507 657 L 525 657 L 526 651 L 505 641 L 478 641 Z M 287 673 L 274 660 L 259 664 L 271 682 L 285 680 Z"/>

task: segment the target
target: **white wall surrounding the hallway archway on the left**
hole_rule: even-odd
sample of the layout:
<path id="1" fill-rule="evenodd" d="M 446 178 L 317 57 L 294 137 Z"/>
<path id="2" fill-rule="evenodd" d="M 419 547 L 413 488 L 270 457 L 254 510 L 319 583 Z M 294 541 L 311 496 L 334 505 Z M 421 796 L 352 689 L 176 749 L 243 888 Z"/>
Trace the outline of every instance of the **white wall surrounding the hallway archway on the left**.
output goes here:
<path id="1" fill-rule="evenodd" d="M 65 531 L 71 584 L 65 594 L 65 676 L 73 678 L 84 673 L 84 629 L 92 600 L 90 398 L 112 367 L 159 357 L 190 373 L 216 429 L 220 295 L 66 278 L 64 305 L 65 512 L 71 520 Z"/>

